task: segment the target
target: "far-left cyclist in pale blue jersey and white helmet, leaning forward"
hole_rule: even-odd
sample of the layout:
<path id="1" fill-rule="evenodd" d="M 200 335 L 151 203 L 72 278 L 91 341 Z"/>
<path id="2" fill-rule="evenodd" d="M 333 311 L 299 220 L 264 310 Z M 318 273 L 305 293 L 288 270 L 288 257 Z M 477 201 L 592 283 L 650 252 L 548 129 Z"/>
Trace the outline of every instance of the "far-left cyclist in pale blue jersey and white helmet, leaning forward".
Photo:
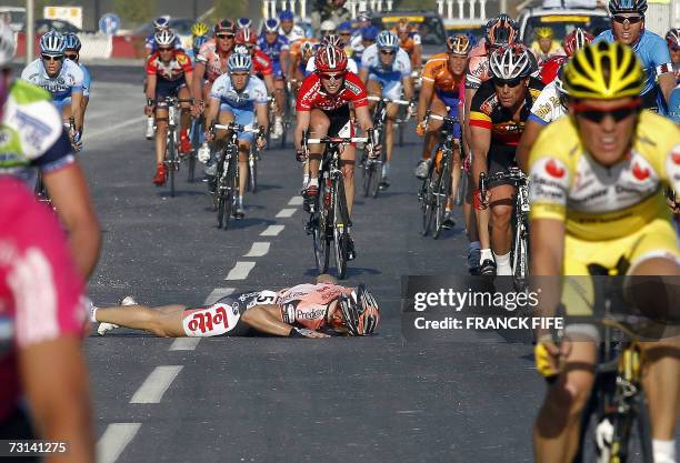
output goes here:
<path id="1" fill-rule="evenodd" d="M 64 59 L 64 51 L 63 36 L 47 32 L 40 38 L 40 58 L 23 69 L 21 79 L 49 91 L 64 122 L 73 119 L 69 137 L 74 148 L 80 149 L 84 74 L 77 63 Z"/>

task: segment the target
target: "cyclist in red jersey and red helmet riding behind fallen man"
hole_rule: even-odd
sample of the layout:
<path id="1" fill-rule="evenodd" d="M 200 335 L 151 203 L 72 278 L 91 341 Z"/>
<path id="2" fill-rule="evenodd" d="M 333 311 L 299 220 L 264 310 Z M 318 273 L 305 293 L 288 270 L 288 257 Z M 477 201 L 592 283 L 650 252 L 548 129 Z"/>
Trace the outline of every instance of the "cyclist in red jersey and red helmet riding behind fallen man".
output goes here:
<path id="1" fill-rule="evenodd" d="M 353 72 L 347 70 L 347 54 L 333 46 L 321 47 L 314 57 L 317 70 L 309 74 L 298 92 L 296 104 L 297 124 L 294 132 L 298 159 L 302 160 L 302 132 L 309 130 L 313 137 L 336 135 L 351 137 L 353 127 L 350 120 L 350 103 L 354 109 L 357 121 L 362 130 L 373 128 L 368 110 L 366 85 Z M 304 208 L 319 194 L 319 163 L 323 147 L 313 144 L 309 149 L 309 184 L 304 189 Z M 380 147 L 374 147 L 379 152 Z M 354 162 L 356 149 L 344 145 L 341 159 L 342 177 L 348 213 L 351 215 L 354 201 Z M 354 259 L 354 245 L 349 240 L 349 259 Z"/>

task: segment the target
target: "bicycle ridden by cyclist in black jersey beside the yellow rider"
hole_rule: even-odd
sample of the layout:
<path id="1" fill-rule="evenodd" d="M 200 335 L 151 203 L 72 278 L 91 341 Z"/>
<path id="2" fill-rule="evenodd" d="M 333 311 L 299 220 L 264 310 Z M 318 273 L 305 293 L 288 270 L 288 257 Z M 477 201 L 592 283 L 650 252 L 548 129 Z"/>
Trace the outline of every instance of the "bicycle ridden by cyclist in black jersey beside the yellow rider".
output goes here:
<path id="1" fill-rule="evenodd" d="M 500 182 L 516 188 L 510 262 L 516 288 L 523 289 L 529 275 L 529 179 L 518 167 L 511 167 L 508 172 L 497 172 L 491 175 L 482 172 L 479 175 L 481 198 L 487 198 L 490 184 Z"/>

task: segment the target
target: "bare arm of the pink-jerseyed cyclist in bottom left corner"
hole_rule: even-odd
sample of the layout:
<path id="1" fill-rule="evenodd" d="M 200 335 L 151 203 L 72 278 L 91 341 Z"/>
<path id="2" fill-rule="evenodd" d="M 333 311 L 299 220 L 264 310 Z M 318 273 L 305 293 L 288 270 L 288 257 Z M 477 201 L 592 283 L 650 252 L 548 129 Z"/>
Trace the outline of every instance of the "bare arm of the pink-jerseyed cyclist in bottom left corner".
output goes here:
<path id="1" fill-rule="evenodd" d="M 19 350 L 19 369 L 40 437 L 68 442 L 69 461 L 84 463 L 94 462 L 94 437 L 81 348 L 73 334 L 29 345 Z"/>

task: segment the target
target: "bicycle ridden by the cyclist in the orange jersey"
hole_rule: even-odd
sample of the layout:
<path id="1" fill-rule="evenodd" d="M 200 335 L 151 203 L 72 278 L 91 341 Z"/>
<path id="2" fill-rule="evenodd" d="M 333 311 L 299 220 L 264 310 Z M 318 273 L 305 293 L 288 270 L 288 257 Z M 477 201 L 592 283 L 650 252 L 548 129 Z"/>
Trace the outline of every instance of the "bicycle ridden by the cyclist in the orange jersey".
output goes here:
<path id="1" fill-rule="evenodd" d="M 441 151 L 442 155 L 441 160 L 434 159 L 433 162 L 430 162 L 428 174 L 422 181 L 418 197 L 422 210 L 422 235 L 427 236 L 432 231 L 432 238 L 437 240 L 443 230 L 447 202 L 452 193 L 453 149 L 457 144 L 460 145 L 460 140 L 454 134 L 454 127 L 459 123 L 457 118 L 428 112 L 424 119 L 426 127 L 430 119 L 443 121 L 441 129 L 443 141 L 436 151 Z"/>

